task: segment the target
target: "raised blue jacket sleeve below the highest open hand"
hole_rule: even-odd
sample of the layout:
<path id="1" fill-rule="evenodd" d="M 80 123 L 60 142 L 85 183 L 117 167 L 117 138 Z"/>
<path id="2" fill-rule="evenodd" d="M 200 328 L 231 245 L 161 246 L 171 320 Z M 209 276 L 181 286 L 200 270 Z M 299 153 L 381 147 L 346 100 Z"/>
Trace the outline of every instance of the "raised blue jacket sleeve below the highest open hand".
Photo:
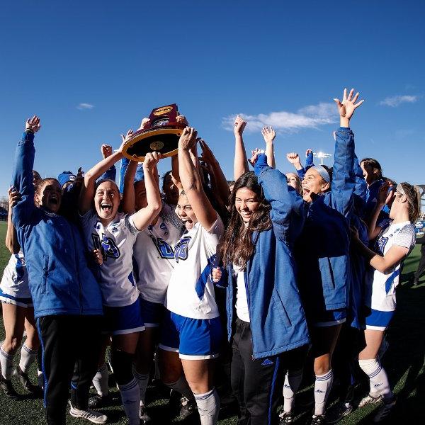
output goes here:
<path id="1" fill-rule="evenodd" d="M 348 216 L 353 207 L 356 178 L 354 164 L 354 133 L 340 127 L 335 133 L 334 173 L 331 184 L 332 208 Z"/>

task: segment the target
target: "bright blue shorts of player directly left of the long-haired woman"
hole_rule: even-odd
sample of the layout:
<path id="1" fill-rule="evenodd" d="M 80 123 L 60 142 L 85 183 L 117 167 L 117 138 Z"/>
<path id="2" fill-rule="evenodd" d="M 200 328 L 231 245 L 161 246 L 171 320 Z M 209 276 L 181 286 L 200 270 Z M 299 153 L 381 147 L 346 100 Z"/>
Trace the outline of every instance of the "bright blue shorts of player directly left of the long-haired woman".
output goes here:
<path id="1" fill-rule="evenodd" d="M 202 360 L 218 357 L 221 342 L 220 317 L 191 319 L 166 310 L 159 348 L 186 360 Z"/>

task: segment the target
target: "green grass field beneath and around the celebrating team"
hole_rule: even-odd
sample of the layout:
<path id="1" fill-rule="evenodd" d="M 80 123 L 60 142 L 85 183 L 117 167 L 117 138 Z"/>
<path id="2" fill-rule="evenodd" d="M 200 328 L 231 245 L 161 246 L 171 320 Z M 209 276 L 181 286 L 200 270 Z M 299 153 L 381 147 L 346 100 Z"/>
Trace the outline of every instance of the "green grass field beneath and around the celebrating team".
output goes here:
<path id="1" fill-rule="evenodd" d="M 6 223 L 0 222 L 0 271 L 8 261 L 8 251 L 3 241 L 6 234 Z M 409 276 L 416 270 L 419 259 L 419 246 L 404 263 L 402 285 L 397 291 L 397 313 L 388 331 L 387 341 L 390 348 L 382 359 L 390 378 L 392 387 L 397 393 L 398 402 L 391 423 L 423 424 L 425 423 L 425 283 L 412 287 L 408 282 Z M 4 338 L 3 322 L 0 319 L 0 340 Z M 18 356 L 16 356 L 18 357 Z M 35 380 L 35 365 L 30 375 Z M 21 391 L 18 383 L 13 381 L 16 389 Z M 115 403 L 105 409 L 109 416 L 110 424 L 126 424 L 118 391 L 113 388 Z M 149 392 L 149 389 L 148 389 Z M 302 390 L 302 398 L 311 395 L 311 382 L 307 382 Z M 358 394 L 361 397 L 362 394 Z M 0 425 L 37 425 L 45 424 L 44 410 L 40 399 L 32 399 L 23 395 L 18 402 L 11 402 L 0 391 Z M 169 408 L 167 400 L 151 388 L 149 414 L 154 419 L 154 424 L 169 424 Z M 373 409 L 355 410 L 340 424 L 369 424 Z M 310 411 L 300 411 L 295 424 L 304 423 Z M 196 416 L 196 415 L 194 415 Z M 221 425 L 237 424 L 234 411 L 222 411 L 220 414 Z M 68 416 L 67 424 L 81 424 L 81 420 Z M 86 422 L 88 423 L 88 422 Z M 193 419 L 191 424 L 198 424 L 198 419 Z"/>

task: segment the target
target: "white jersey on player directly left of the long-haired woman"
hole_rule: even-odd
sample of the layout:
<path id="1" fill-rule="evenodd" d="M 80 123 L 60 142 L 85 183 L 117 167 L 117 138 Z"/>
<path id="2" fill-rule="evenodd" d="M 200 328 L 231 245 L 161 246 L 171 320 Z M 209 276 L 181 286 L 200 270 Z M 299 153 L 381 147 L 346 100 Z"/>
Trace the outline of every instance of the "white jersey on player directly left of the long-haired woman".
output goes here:
<path id="1" fill-rule="evenodd" d="M 211 270 L 220 237 L 225 232 L 220 217 L 209 231 L 199 222 L 176 244 L 176 266 L 171 273 L 165 306 L 171 312 L 193 319 L 218 316 Z"/>

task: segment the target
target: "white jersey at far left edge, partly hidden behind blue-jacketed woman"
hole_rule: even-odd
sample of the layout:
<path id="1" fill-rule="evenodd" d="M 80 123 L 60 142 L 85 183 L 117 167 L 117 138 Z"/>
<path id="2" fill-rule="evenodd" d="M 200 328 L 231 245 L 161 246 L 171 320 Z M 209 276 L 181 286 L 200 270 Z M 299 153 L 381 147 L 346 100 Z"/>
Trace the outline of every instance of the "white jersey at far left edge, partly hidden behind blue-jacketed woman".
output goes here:
<path id="1" fill-rule="evenodd" d="M 1 278 L 0 288 L 5 294 L 16 298 L 31 297 L 26 262 L 22 251 L 13 254 L 9 259 Z"/>

